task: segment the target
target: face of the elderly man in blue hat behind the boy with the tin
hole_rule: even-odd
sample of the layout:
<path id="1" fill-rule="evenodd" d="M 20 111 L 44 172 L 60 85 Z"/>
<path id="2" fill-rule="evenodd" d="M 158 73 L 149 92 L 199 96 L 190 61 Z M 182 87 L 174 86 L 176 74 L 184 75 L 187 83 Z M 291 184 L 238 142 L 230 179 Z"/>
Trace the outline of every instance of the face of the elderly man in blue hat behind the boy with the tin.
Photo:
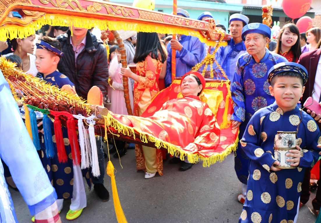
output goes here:
<path id="1" fill-rule="evenodd" d="M 250 55 L 260 54 L 265 52 L 265 46 L 268 44 L 270 39 L 264 37 L 259 33 L 249 33 L 245 36 L 245 47 L 246 51 Z"/>

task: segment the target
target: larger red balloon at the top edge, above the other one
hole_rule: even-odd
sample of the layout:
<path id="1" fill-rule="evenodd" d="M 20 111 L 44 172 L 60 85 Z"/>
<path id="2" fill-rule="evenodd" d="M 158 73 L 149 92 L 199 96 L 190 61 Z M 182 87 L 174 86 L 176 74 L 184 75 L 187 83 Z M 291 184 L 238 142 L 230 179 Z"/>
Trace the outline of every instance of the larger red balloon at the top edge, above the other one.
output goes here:
<path id="1" fill-rule="evenodd" d="M 312 0 L 283 0 L 284 13 L 292 19 L 300 18 L 310 9 Z"/>

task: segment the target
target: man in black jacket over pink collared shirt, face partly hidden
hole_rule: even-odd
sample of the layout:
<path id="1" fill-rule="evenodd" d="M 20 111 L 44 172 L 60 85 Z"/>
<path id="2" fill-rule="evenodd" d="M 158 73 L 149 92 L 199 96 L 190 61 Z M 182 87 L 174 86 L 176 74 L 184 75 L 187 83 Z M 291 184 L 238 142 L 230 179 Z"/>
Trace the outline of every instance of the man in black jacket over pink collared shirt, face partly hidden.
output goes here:
<path id="1" fill-rule="evenodd" d="M 100 88 L 107 95 L 108 61 L 106 47 L 88 29 L 72 27 L 65 35 L 57 37 L 64 56 L 58 64 L 59 72 L 74 83 L 79 96 L 87 100 L 92 86 Z M 100 176 L 93 178 L 94 190 L 99 198 L 108 201 L 109 193 L 104 187 L 105 161 L 100 140 L 96 140 Z"/>

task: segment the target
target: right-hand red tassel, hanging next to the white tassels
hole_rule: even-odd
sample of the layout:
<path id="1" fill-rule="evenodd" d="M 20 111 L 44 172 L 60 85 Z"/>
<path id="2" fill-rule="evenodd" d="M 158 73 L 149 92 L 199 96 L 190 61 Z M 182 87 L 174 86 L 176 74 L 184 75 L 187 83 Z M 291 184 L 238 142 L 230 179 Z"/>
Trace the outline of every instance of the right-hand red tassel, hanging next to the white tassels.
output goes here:
<path id="1" fill-rule="evenodd" d="M 76 133 L 75 120 L 72 119 L 71 117 L 68 117 L 68 120 L 67 120 L 67 130 L 68 130 L 68 138 L 71 146 L 71 156 L 73 159 L 73 164 L 75 166 L 79 166 L 81 161 L 80 148 L 79 148 L 79 142 L 78 142 L 78 137 Z"/>

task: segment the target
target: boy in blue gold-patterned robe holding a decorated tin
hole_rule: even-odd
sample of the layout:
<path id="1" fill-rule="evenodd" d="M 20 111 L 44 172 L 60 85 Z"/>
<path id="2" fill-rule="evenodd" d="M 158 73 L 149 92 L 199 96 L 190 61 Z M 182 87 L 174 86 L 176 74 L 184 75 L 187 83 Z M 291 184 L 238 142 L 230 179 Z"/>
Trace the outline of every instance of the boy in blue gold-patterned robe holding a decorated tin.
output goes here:
<path id="1" fill-rule="evenodd" d="M 318 161 L 321 141 L 315 121 L 298 106 L 307 79 L 307 70 L 293 62 L 282 62 L 269 70 L 269 90 L 275 102 L 254 113 L 240 140 L 250 159 L 241 223 L 296 222 L 304 171 Z M 297 132 L 296 149 L 288 146 L 291 148 L 283 157 L 287 164 L 291 162 L 282 166 L 287 169 L 274 166 L 283 161 L 282 157 L 274 158 L 274 147 L 279 147 L 276 142 L 283 139 L 278 131 Z"/>

